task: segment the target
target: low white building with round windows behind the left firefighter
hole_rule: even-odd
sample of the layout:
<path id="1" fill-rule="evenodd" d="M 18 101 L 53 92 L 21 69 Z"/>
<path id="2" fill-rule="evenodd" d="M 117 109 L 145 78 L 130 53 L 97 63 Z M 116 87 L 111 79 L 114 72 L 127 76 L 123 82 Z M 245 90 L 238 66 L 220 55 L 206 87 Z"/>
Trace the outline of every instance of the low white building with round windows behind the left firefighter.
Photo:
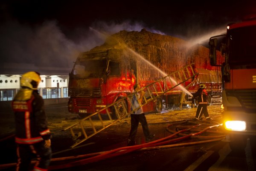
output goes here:
<path id="1" fill-rule="evenodd" d="M 0 101 L 11 101 L 20 89 L 20 77 L 28 71 L 40 73 L 38 92 L 43 99 L 68 97 L 71 68 L 39 67 L 27 63 L 3 63 L 0 67 Z"/>

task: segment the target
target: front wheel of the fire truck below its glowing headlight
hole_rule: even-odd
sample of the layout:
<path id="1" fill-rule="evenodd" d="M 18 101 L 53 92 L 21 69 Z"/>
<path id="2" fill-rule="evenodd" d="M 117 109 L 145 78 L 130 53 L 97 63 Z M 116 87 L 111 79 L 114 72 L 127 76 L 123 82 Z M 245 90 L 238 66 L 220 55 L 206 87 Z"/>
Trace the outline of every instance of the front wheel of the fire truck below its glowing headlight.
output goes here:
<path id="1" fill-rule="evenodd" d="M 243 152 L 247 144 L 247 138 L 242 135 L 230 135 L 230 148 L 234 152 Z"/>

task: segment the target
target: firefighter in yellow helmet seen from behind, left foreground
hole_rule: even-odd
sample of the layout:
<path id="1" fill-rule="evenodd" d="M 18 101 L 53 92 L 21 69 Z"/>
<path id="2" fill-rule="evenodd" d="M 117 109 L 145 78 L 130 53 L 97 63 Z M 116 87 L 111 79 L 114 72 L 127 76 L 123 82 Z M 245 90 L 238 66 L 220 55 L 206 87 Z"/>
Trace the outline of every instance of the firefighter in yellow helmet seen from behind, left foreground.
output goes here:
<path id="1" fill-rule="evenodd" d="M 12 101 L 15 114 L 17 171 L 28 171 L 32 158 L 37 161 L 33 171 L 47 171 L 52 157 L 51 133 L 47 127 L 44 100 L 38 94 L 40 74 L 27 72 L 20 79 L 21 88 Z"/>

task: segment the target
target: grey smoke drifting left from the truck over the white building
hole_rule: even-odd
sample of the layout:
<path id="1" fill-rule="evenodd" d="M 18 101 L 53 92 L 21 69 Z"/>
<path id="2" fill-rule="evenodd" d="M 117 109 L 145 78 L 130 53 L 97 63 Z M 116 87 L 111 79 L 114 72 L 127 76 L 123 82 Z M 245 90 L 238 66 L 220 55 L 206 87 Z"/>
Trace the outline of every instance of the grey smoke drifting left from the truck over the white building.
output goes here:
<path id="1" fill-rule="evenodd" d="M 40 26 L 30 26 L 9 21 L 0 26 L 0 56 L 2 62 L 33 63 L 37 66 L 72 67 L 80 52 L 100 46 L 111 34 L 121 30 L 148 31 L 164 34 L 147 28 L 144 23 L 125 21 L 122 23 L 98 21 L 89 28 L 70 31 L 68 38 L 55 20 L 45 21 Z"/>

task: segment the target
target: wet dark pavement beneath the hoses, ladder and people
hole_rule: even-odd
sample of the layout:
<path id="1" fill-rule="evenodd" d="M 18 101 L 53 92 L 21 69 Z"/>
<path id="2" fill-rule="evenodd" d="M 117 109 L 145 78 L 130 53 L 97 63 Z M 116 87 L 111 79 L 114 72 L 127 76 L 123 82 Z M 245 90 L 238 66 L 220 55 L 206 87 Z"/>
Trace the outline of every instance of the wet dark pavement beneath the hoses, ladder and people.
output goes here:
<path id="1" fill-rule="evenodd" d="M 89 138 L 85 142 L 81 143 L 75 148 L 70 148 L 74 141 L 70 134 L 70 131 L 62 131 L 69 125 L 77 123 L 81 118 L 77 114 L 70 114 L 67 111 L 67 106 L 57 105 L 57 106 L 47 106 L 46 112 L 48 115 L 49 128 L 52 132 L 52 151 L 53 158 L 60 159 L 61 157 L 74 157 L 85 154 L 93 154 L 96 152 L 102 153 L 104 151 L 111 151 L 116 148 L 126 147 L 127 139 L 130 131 L 130 117 L 110 126 L 109 128 L 101 131 L 95 136 Z M 171 128 L 172 131 L 177 131 L 174 126 L 169 127 L 170 124 L 179 123 L 185 120 L 192 120 L 195 117 L 195 112 L 197 108 L 183 108 L 183 109 L 172 109 L 164 110 L 161 114 L 149 113 L 145 114 L 148 121 L 148 126 L 151 134 L 155 134 L 154 140 L 159 140 L 163 137 L 167 137 L 172 133 L 168 131 Z M 212 118 L 221 117 L 221 104 L 208 106 L 209 114 Z M 3 115 L 3 114 L 2 114 Z M 8 121 L 8 124 L 6 123 Z M 106 121 L 108 122 L 108 121 Z M 205 123 L 205 120 L 202 121 Z M 2 119 L 0 120 L 2 124 L 1 129 L 1 139 L 11 135 L 14 131 L 14 123 L 12 120 L 12 112 L 6 112 Z M 208 134 L 213 135 L 213 134 Z M 198 141 L 198 139 L 189 138 L 182 140 L 177 143 L 190 143 Z M 145 144 L 145 138 L 143 136 L 143 130 L 141 125 L 139 125 L 137 137 L 137 144 Z M 9 138 L 8 140 L 0 142 L 0 147 L 5 152 L 1 155 L 1 164 L 15 163 L 15 143 L 14 139 Z M 224 148 L 225 147 L 225 148 Z M 155 150 L 137 150 L 131 153 L 123 154 L 118 157 L 105 158 L 105 160 L 100 160 L 97 162 L 87 163 L 80 166 L 72 168 L 62 168 L 60 170 L 64 171 L 139 171 L 139 170 L 159 170 L 159 171 L 182 171 L 188 169 L 189 167 L 195 167 L 195 170 L 208 170 L 213 163 L 218 163 L 220 160 L 220 154 L 218 151 L 224 148 L 224 151 L 228 150 L 227 142 L 210 142 L 204 144 L 195 144 L 180 146 L 174 148 L 157 148 Z M 216 151 L 216 152 L 215 152 Z M 4 157 L 3 157 L 4 154 Z M 206 159 L 206 162 L 202 162 L 200 165 L 195 163 L 202 156 L 209 154 L 210 157 Z M 228 155 L 232 153 L 227 153 Z M 226 155 L 226 154 L 225 154 Z M 234 154 L 231 158 L 234 161 L 240 162 L 241 166 L 236 166 L 238 170 L 247 170 L 247 163 L 244 162 L 243 155 Z M 242 159 L 241 159 L 242 157 Z M 84 158 L 77 158 L 75 160 L 64 160 L 58 162 L 51 162 L 51 165 L 63 165 L 71 161 L 79 161 Z M 230 160 L 230 158 L 228 158 Z M 255 160 L 253 158 L 253 160 Z M 232 163 L 232 162 L 231 162 Z M 215 164 L 216 165 L 216 164 Z M 219 164 L 221 165 L 221 164 Z M 219 170 L 219 165 L 214 166 Z M 225 163 L 223 167 L 230 168 L 230 162 Z M 254 167 L 254 166 L 253 166 Z M 251 167 L 251 168 L 253 168 Z M 239 169 L 240 168 L 240 169 Z M 15 168 L 7 168 L 6 171 L 13 171 Z M 231 169 L 232 170 L 232 169 Z"/>

